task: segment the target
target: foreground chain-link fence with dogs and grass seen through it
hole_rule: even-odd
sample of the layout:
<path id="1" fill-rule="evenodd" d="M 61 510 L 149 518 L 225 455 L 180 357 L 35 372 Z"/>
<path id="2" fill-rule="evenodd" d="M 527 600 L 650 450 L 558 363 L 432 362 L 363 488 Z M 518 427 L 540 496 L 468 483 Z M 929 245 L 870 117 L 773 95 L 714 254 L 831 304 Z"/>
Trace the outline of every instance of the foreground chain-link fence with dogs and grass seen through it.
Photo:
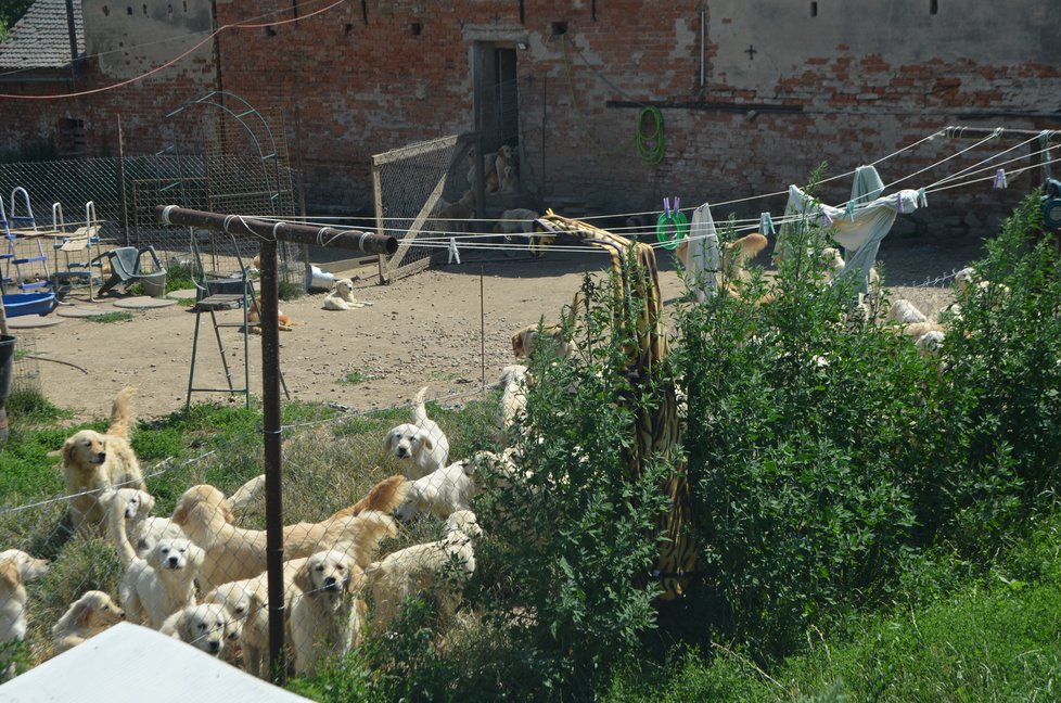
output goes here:
<path id="1" fill-rule="evenodd" d="M 118 397 L 106 436 L 71 434 L 53 474 L 0 508 L 0 574 L 11 584 L 0 610 L 13 614 L 0 631 L 0 672 L 36 666 L 125 619 L 271 678 L 260 435 L 141 465 L 126 439 L 128 396 Z M 481 450 L 497 448 L 497 396 L 430 410 L 423 397 L 284 426 L 292 673 L 314 673 L 365 631 L 385 631 L 410 596 L 455 615 L 475 568 L 471 500 Z"/>

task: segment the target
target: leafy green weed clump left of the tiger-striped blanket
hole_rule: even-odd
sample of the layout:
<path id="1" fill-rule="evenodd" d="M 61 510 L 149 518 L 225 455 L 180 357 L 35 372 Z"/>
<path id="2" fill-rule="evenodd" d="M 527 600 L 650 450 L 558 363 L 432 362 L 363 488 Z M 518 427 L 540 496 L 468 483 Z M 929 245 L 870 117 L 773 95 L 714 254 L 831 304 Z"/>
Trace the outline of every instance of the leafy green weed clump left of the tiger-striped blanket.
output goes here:
<path id="1" fill-rule="evenodd" d="M 577 327 L 571 310 L 563 322 L 574 356 L 534 348 L 517 431 L 522 474 L 482 496 L 489 610 L 554 686 L 588 683 L 631 655 L 655 623 L 649 575 L 674 468 L 650 457 L 632 476 L 629 453 L 638 408 L 668 381 L 665 365 L 649 379 L 628 375 L 622 330 L 632 329 L 640 302 L 617 291 L 614 274 L 586 279 Z"/>

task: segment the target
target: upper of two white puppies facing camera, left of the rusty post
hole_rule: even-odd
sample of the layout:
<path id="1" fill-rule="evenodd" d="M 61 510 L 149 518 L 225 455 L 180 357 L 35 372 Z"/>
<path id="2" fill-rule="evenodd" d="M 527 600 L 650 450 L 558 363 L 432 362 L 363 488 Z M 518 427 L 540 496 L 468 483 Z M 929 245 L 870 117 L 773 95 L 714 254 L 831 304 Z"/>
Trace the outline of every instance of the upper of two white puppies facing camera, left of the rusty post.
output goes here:
<path id="1" fill-rule="evenodd" d="M 169 615 L 195 604 L 195 578 L 206 554 L 189 539 L 162 539 L 143 559 L 125 544 L 128 559 L 118 585 L 118 598 L 126 616 L 158 629 Z"/>

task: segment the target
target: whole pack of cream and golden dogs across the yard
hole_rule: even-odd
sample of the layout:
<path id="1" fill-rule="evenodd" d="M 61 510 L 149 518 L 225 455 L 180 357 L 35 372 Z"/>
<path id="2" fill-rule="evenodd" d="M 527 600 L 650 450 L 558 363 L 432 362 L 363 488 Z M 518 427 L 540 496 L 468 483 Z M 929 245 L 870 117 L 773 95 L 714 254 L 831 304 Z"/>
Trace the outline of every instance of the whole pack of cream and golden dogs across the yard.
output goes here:
<path id="1" fill-rule="evenodd" d="M 513 220 L 523 220 L 534 214 L 513 215 Z M 763 251 L 765 239 L 756 233 L 724 247 L 726 294 L 744 294 L 745 267 Z M 826 251 L 820 258 L 829 277 L 843 271 L 836 250 Z M 935 316 L 942 321 L 933 321 L 903 298 L 894 301 L 886 321 L 912 338 L 922 354 L 936 354 L 946 336 L 946 321 L 961 315 L 963 296 L 1008 293 L 973 269 L 957 274 L 956 289 L 958 303 Z M 329 309 L 359 305 L 349 279 L 336 281 L 329 297 L 336 301 L 325 303 L 335 305 Z M 578 305 L 576 296 L 573 308 Z M 579 353 L 560 325 L 529 325 L 513 333 L 512 352 L 519 362 L 506 366 L 498 380 L 497 438 L 502 446 L 525 423 L 534 379 L 522 362 L 542 345 L 558 359 Z M 130 444 L 135 391 L 129 387 L 117 394 L 105 432 L 81 430 L 62 447 L 72 532 L 77 538 L 110 541 L 124 573 L 117 593 L 87 590 L 69 603 L 51 627 L 53 651 L 64 652 L 127 621 L 267 678 L 267 535 L 237 524 L 237 515 L 263 491 L 265 476 L 252 478 L 231 496 L 209 484 L 191 486 L 172 514 L 153 515 L 155 499 Z M 311 675 L 327 659 L 357 647 L 370 619 L 385 631 L 412 595 L 430 593 L 439 613 L 452 617 L 461 586 L 476 567 L 475 545 L 483 529 L 473 503 L 483 490 L 484 472 L 493 477 L 489 485 L 502 489 L 526 478 L 512 447 L 450 461 L 446 433 L 427 413 L 427 391 L 424 386 L 416 394 L 408 422 L 382 438 L 384 451 L 402 466 L 400 474 L 383 478 L 358 501 L 318 522 L 283 527 L 283 612 L 296 673 Z M 421 514 L 439 521 L 439 539 L 379 553 L 385 539 L 398 535 L 400 524 Z M 44 576 L 48 568 L 48 561 L 24 551 L 0 552 L 0 646 L 25 638 L 31 606 L 25 584 Z M 0 659 L 0 666 L 11 674 L 10 661 Z"/>

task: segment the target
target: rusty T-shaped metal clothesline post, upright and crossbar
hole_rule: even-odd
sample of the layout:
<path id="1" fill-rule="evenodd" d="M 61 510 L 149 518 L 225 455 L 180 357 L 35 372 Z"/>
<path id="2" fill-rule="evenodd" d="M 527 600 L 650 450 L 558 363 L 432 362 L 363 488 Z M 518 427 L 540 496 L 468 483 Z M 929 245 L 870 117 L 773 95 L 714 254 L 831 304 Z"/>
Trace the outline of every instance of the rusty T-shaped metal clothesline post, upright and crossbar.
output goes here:
<path id="1" fill-rule="evenodd" d="M 269 591 L 269 666 L 273 680 L 283 685 L 286 666 L 284 646 L 283 592 L 283 493 L 281 481 L 281 408 L 280 408 L 280 325 L 277 282 L 277 242 L 301 242 L 368 254 L 394 254 L 398 240 L 388 234 L 309 227 L 291 222 L 267 222 L 240 215 L 221 215 L 203 210 L 156 205 L 155 216 L 166 225 L 200 227 L 230 234 L 254 235 L 260 245 L 261 305 L 261 434 L 266 475 L 266 573 Z"/>

